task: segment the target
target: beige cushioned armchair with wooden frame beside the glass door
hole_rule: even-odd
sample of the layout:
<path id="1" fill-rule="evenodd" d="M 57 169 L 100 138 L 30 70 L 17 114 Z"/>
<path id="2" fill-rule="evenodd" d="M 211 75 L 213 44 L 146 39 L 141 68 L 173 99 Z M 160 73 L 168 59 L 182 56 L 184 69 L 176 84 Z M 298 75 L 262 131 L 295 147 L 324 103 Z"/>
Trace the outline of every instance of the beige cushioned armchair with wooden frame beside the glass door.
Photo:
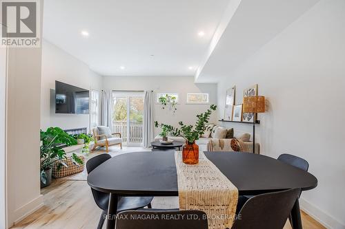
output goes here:
<path id="1" fill-rule="evenodd" d="M 99 128 L 107 132 L 107 134 L 99 134 Z M 103 131 L 104 132 L 104 131 Z M 120 145 L 122 149 L 122 138 L 121 133 L 111 133 L 109 127 L 95 127 L 92 129 L 92 135 L 95 138 L 95 145 L 92 148 L 92 151 L 97 149 L 99 146 L 106 146 L 106 152 L 109 152 L 109 146 Z"/>

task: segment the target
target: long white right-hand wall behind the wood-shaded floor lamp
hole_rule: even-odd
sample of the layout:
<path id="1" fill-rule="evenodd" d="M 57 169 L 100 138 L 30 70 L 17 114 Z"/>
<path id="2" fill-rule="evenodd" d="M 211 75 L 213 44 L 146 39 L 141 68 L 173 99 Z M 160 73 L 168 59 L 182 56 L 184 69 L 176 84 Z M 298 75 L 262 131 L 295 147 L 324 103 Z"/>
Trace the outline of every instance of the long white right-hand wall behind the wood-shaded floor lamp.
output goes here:
<path id="1" fill-rule="evenodd" d="M 218 84 L 219 117 L 226 89 L 259 85 L 268 100 L 257 140 L 262 154 L 308 160 L 318 179 L 302 208 L 328 228 L 345 228 L 345 1 L 320 1 Z M 228 124 L 251 133 L 245 124 Z"/>

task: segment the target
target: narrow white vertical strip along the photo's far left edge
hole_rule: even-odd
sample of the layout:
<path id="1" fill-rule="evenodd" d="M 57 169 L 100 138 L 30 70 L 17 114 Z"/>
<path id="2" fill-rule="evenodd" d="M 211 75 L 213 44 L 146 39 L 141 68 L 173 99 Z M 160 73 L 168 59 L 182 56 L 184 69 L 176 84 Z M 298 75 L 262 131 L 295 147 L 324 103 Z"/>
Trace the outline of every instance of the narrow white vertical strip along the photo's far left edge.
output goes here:
<path id="1" fill-rule="evenodd" d="M 0 229 L 6 228 L 6 48 L 0 48 Z"/>

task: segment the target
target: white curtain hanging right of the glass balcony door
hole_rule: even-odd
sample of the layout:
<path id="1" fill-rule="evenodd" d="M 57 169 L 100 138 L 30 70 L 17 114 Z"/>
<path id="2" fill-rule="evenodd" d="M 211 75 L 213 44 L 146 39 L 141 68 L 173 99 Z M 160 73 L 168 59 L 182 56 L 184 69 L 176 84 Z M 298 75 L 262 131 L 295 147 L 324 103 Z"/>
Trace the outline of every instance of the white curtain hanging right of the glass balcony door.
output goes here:
<path id="1" fill-rule="evenodd" d="M 144 91 L 144 127 L 143 138 L 144 147 L 150 147 L 153 136 L 153 93 L 152 91 Z"/>

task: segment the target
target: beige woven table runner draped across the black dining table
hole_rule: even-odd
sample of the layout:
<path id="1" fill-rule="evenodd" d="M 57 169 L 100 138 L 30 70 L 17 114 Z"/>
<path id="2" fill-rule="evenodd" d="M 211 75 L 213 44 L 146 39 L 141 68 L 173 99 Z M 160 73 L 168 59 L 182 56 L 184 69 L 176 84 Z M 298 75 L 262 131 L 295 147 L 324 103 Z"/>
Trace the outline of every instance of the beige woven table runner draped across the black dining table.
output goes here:
<path id="1" fill-rule="evenodd" d="M 199 163 L 182 162 L 175 152 L 180 210 L 202 210 L 208 216 L 208 228 L 231 228 L 235 219 L 238 190 L 203 152 Z"/>

